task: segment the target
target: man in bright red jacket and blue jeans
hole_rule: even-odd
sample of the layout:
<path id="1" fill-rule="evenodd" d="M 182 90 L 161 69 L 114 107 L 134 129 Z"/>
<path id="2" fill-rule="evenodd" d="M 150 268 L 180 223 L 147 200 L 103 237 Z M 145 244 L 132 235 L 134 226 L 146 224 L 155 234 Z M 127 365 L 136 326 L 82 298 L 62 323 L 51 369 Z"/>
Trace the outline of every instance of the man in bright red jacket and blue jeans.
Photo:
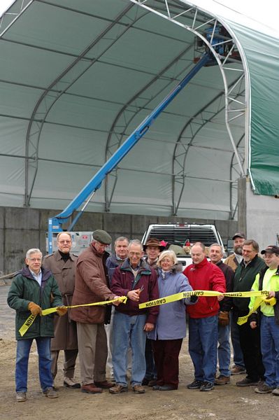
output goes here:
<path id="1" fill-rule="evenodd" d="M 196 242 L 192 246 L 193 264 L 185 268 L 193 290 L 226 291 L 224 274 L 217 265 L 206 259 L 205 246 Z M 187 307 L 189 314 L 189 354 L 194 364 L 194 381 L 189 389 L 211 391 L 214 388 L 217 367 L 218 312 L 222 296 L 199 296 L 198 302 Z"/>

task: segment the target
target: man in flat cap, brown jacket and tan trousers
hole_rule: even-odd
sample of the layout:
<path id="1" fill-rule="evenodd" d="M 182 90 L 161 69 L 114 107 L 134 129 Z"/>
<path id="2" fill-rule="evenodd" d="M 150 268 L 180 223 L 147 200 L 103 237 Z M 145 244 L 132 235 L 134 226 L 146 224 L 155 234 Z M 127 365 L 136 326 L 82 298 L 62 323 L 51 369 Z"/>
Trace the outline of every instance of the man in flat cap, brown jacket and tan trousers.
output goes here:
<path id="1" fill-rule="evenodd" d="M 108 288 L 106 270 L 106 246 L 111 237 L 104 230 L 95 230 L 93 240 L 76 262 L 76 283 L 72 305 L 103 302 L 115 299 L 115 293 Z M 115 302 L 117 304 L 117 302 Z M 78 354 L 80 358 L 81 391 L 101 393 L 110 388 L 106 381 L 106 359 L 108 345 L 104 321 L 106 306 L 77 307 L 71 311 L 78 332 Z"/>

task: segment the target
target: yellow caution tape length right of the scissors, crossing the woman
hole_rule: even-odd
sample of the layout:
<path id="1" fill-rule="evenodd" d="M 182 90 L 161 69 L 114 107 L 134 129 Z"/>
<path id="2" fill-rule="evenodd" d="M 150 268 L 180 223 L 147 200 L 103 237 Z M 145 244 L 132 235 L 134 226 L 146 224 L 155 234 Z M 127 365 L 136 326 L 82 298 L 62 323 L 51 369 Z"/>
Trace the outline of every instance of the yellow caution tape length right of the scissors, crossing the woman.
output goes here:
<path id="1" fill-rule="evenodd" d="M 159 299 L 150 300 L 149 302 L 144 302 L 138 305 L 139 309 L 149 308 L 157 306 L 159 304 L 165 304 L 170 302 L 176 302 L 176 300 L 185 299 L 185 297 L 190 296 L 229 296 L 229 297 L 251 297 L 251 296 L 268 296 L 269 292 L 266 290 L 253 290 L 250 292 L 226 292 L 220 293 L 215 290 L 192 290 L 191 292 L 181 292 L 176 293 L 175 295 L 169 295 L 165 297 L 160 297 Z"/>

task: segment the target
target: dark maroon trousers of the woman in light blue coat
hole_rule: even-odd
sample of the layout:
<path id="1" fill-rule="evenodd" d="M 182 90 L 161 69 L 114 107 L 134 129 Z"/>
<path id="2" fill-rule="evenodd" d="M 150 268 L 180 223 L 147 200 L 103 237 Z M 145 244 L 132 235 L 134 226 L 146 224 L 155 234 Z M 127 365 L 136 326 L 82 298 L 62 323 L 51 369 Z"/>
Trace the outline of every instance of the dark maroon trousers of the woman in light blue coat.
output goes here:
<path id="1" fill-rule="evenodd" d="M 178 356 L 183 339 L 157 339 L 152 341 L 155 365 L 157 367 L 157 385 L 171 385 L 178 388 Z"/>

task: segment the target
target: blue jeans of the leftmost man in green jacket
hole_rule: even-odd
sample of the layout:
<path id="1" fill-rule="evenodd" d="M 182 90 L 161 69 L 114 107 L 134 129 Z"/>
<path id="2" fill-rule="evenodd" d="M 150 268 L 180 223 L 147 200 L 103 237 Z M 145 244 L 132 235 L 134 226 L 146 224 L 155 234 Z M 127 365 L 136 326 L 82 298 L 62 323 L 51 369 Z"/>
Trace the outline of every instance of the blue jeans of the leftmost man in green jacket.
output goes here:
<path id="1" fill-rule="evenodd" d="M 52 358 L 50 353 L 50 337 L 36 337 L 38 350 L 38 373 L 43 391 L 52 388 Z M 33 338 L 17 340 L 17 356 L 15 360 L 15 391 L 27 392 L 28 360 Z"/>

